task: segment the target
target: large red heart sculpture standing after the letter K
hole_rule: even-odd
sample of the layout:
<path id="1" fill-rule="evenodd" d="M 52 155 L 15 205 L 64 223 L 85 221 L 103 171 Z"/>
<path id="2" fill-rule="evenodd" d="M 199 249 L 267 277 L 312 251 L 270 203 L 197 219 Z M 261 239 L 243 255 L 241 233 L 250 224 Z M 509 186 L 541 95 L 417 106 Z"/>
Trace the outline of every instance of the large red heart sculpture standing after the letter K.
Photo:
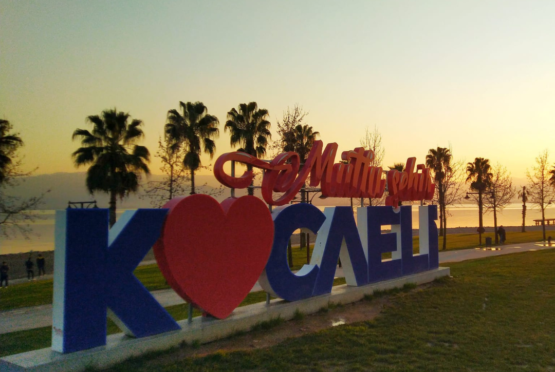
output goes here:
<path id="1" fill-rule="evenodd" d="M 228 317 L 266 266 L 274 241 L 268 207 L 254 196 L 174 198 L 154 255 L 183 299 L 216 318 Z"/>

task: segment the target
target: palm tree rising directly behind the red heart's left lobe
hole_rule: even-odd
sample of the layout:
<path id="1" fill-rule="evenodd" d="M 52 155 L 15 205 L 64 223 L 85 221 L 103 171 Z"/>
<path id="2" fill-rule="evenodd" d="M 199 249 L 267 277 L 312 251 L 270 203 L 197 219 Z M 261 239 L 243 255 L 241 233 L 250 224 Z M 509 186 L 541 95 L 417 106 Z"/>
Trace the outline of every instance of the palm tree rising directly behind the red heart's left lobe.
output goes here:
<path id="1" fill-rule="evenodd" d="M 200 152 L 214 156 L 216 144 L 212 138 L 218 137 L 220 122 L 218 118 L 208 114 L 202 102 L 179 102 L 183 114 L 178 110 L 168 111 L 168 124 L 165 132 L 172 143 L 172 148 L 183 148 L 185 153 L 183 165 L 191 172 L 191 195 L 195 192 L 195 170 L 200 167 Z M 201 148 L 202 144 L 202 148 Z"/>

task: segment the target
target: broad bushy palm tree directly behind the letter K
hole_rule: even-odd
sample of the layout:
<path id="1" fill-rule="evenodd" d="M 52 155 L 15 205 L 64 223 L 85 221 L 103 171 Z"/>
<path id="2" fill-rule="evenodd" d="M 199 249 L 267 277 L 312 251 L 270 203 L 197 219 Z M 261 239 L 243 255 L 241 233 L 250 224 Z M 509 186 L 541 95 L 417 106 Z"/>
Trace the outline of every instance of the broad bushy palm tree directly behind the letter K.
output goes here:
<path id="1" fill-rule="evenodd" d="M 81 145 L 73 152 L 75 166 L 88 165 L 87 188 L 110 195 L 110 227 L 115 223 L 116 197 L 123 198 L 137 191 L 142 173 L 149 174 L 147 147 L 137 145 L 143 138 L 143 121 L 115 109 L 102 111 L 101 116 L 91 115 L 87 122 L 93 125 L 92 133 L 75 129 L 72 139 L 79 138 Z"/>

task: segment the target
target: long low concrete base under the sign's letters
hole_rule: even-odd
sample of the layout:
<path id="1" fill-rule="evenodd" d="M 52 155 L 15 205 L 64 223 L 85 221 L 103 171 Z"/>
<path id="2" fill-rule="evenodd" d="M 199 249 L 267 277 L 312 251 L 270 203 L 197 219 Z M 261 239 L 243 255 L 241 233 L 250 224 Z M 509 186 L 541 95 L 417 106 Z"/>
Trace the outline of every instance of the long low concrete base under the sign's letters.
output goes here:
<path id="1" fill-rule="evenodd" d="M 50 348 L 28 351 L 27 353 L 9 355 L 0 359 L 0 371 L 82 371 L 87 368 L 107 368 L 133 356 L 157 350 L 170 349 L 182 343 L 208 343 L 229 337 L 234 333 L 250 330 L 255 324 L 281 318 L 289 320 L 297 310 L 304 314 L 315 313 L 330 304 L 346 304 L 364 298 L 374 291 L 400 288 L 406 283 L 423 284 L 450 274 L 448 267 L 392 279 L 364 287 L 336 286 L 330 294 L 312 297 L 296 302 L 275 299 L 269 305 L 256 303 L 234 310 L 223 320 L 197 317 L 192 323 L 181 320 L 181 330 L 163 333 L 140 339 L 130 338 L 123 333 L 108 336 L 105 346 L 60 354 Z"/>

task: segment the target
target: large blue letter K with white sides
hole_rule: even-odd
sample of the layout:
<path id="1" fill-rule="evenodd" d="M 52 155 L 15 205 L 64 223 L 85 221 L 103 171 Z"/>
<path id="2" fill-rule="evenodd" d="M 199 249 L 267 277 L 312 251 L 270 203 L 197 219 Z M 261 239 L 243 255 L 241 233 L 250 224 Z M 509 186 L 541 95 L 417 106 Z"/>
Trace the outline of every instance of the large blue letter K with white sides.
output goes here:
<path id="1" fill-rule="evenodd" d="M 157 241 L 166 212 L 125 212 L 109 232 L 108 210 L 56 212 L 53 350 L 105 345 L 107 308 L 135 337 L 179 329 L 133 275 Z"/>

